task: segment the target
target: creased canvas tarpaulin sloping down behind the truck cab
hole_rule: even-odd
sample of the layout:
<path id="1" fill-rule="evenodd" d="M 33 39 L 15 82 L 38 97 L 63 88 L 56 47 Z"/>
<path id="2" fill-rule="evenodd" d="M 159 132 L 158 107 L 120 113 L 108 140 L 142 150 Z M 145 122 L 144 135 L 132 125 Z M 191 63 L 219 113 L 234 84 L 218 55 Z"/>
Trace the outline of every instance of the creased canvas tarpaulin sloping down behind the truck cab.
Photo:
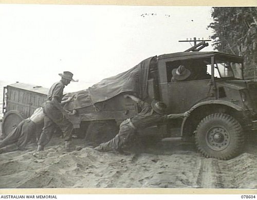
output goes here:
<path id="1" fill-rule="evenodd" d="M 135 67 L 118 75 L 105 78 L 101 82 L 78 92 L 67 93 L 63 99 L 74 96 L 74 101 L 65 105 L 67 110 L 75 110 L 106 101 L 123 92 L 133 92 L 139 98 L 148 96 L 148 74 L 151 59 L 147 58 Z"/>

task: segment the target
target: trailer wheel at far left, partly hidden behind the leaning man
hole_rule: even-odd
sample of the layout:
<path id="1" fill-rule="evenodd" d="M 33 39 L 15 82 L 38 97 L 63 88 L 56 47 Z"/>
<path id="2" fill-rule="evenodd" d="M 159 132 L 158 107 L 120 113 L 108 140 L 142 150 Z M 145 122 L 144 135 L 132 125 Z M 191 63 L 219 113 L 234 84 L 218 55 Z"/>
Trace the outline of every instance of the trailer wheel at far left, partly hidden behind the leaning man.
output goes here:
<path id="1" fill-rule="evenodd" d="M 24 115 L 17 110 L 8 111 L 2 122 L 2 133 L 6 137 L 13 129 L 23 121 Z"/>

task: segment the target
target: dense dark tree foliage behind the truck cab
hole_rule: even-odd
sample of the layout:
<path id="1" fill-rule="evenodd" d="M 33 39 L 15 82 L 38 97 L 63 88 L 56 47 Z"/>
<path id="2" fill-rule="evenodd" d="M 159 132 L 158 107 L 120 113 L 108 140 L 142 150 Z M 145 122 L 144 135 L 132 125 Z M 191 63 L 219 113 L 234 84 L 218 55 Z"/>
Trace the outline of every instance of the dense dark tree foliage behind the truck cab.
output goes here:
<path id="1" fill-rule="evenodd" d="M 257 7 L 213 7 L 213 46 L 216 50 L 245 57 L 245 76 L 255 75 L 257 55 Z M 256 71 L 257 72 L 257 71 Z M 257 73 L 256 73 L 257 74 Z"/>

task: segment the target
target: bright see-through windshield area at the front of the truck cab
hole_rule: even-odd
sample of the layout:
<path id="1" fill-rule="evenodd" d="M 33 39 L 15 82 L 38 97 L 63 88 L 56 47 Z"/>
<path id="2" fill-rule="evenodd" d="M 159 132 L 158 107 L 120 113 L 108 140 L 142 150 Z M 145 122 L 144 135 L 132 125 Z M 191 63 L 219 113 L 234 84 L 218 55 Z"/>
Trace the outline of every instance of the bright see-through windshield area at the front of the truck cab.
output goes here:
<path id="1" fill-rule="evenodd" d="M 211 74 L 211 65 L 208 65 L 207 71 Z M 214 63 L 214 77 L 233 77 L 243 79 L 242 64 L 234 62 Z"/>

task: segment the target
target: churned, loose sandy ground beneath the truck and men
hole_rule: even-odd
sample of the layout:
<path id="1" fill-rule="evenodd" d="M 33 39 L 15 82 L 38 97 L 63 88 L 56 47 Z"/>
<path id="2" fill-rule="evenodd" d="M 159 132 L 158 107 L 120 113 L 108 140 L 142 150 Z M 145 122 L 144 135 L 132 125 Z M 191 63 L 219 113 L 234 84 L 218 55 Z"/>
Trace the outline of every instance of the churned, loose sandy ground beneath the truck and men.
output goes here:
<path id="1" fill-rule="evenodd" d="M 83 141 L 74 140 L 81 146 Z M 65 152 L 60 138 L 46 150 L 0 154 L 0 188 L 257 188 L 257 145 L 229 161 L 205 158 L 194 144 L 165 143 L 139 154 Z"/>

